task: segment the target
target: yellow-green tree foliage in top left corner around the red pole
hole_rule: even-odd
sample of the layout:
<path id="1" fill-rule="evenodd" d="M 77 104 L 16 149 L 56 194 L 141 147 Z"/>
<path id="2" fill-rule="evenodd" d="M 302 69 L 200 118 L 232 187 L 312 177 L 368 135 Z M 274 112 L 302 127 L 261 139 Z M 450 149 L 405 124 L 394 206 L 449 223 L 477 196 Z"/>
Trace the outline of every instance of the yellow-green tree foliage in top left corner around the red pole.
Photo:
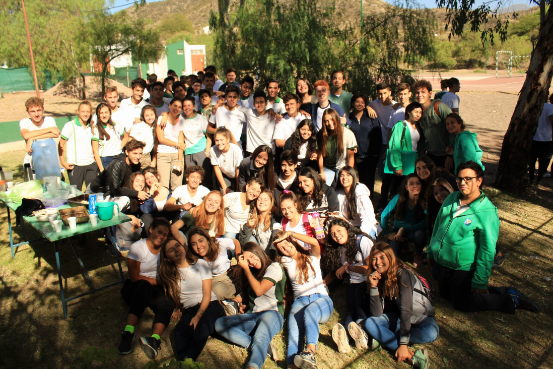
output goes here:
<path id="1" fill-rule="evenodd" d="M 51 0 L 25 3 L 29 32 L 39 80 L 44 72 L 74 77 L 82 61 L 75 55 L 75 35 L 84 27 L 92 9 L 103 0 Z M 9 67 L 30 67 L 29 45 L 20 0 L 0 1 L 0 60 Z"/>

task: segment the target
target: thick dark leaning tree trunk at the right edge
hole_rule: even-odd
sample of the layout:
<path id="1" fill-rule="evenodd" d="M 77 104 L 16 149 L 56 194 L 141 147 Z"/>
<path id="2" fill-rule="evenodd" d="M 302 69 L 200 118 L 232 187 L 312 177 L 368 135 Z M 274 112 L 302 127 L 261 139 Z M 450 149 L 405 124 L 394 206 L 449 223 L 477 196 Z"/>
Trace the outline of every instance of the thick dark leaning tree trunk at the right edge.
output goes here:
<path id="1" fill-rule="evenodd" d="M 528 181 L 528 159 L 538 119 L 549 95 L 553 74 L 553 7 L 549 7 L 532 51 L 519 100 L 503 139 L 494 186 L 520 193 Z"/>

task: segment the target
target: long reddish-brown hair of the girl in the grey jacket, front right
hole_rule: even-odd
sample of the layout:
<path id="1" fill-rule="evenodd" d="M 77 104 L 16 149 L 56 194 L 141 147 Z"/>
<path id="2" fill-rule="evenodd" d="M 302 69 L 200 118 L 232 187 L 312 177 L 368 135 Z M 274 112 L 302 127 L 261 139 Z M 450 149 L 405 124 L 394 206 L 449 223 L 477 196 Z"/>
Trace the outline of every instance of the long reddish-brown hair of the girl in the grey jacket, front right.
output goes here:
<path id="1" fill-rule="evenodd" d="M 413 271 L 411 267 L 409 267 L 407 264 L 405 264 L 400 259 L 397 259 L 395 257 L 394 250 L 388 243 L 386 242 L 377 242 L 374 244 L 373 248 L 371 249 L 371 253 L 369 253 L 368 259 L 369 259 L 369 268 L 367 269 L 367 279 L 369 278 L 369 275 L 374 272 L 373 267 L 373 257 L 374 253 L 377 251 L 381 251 L 385 254 L 385 256 L 388 258 L 388 262 L 390 264 L 388 271 L 382 275 L 382 278 L 378 282 L 378 292 L 380 296 L 384 298 L 395 298 L 399 295 L 399 285 L 398 285 L 398 271 L 399 269 L 409 269 L 411 272 L 413 272 L 416 276 L 416 273 Z M 368 284 L 368 283 L 367 283 Z M 370 285 L 368 284 L 369 289 L 367 292 L 370 291 Z M 404 287 L 407 287 L 404 285 Z"/>

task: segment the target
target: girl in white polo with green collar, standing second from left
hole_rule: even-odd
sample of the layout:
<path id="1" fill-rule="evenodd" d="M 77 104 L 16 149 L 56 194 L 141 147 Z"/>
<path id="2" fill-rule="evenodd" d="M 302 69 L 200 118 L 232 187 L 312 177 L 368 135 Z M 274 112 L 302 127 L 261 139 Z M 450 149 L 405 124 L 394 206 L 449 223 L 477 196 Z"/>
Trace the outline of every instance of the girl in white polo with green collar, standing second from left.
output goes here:
<path id="1" fill-rule="evenodd" d="M 98 175 L 98 165 L 92 153 L 92 131 L 90 128 L 92 106 L 83 101 L 77 111 L 79 117 L 65 123 L 61 129 L 58 153 L 61 165 L 67 169 L 69 183 L 77 185 L 81 190 L 83 181 L 85 187 Z M 67 160 L 64 158 L 67 156 Z"/>

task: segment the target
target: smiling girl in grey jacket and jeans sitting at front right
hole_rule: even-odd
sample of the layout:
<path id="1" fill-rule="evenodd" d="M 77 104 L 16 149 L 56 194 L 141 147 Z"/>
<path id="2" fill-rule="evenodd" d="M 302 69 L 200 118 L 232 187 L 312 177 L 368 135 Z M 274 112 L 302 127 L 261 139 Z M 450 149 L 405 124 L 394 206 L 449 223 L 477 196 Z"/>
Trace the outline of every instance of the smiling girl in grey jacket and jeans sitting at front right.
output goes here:
<path id="1" fill-rule="evenodd" d="M 434 342 L 440 329 L 419 278 L 413 269 L 395 257 L 392 247 L 385 242 L 374 245 L 368 263 L 371 317 L 353 324 L 357 330 L 361 325 L 368 332 L 373 339 L 373 349 L 379 342 L 395 350 L 399 362 L 406 360 L 415 368 L 427 369 L 426 349 L 413 352 L 409 344 Z"/>

